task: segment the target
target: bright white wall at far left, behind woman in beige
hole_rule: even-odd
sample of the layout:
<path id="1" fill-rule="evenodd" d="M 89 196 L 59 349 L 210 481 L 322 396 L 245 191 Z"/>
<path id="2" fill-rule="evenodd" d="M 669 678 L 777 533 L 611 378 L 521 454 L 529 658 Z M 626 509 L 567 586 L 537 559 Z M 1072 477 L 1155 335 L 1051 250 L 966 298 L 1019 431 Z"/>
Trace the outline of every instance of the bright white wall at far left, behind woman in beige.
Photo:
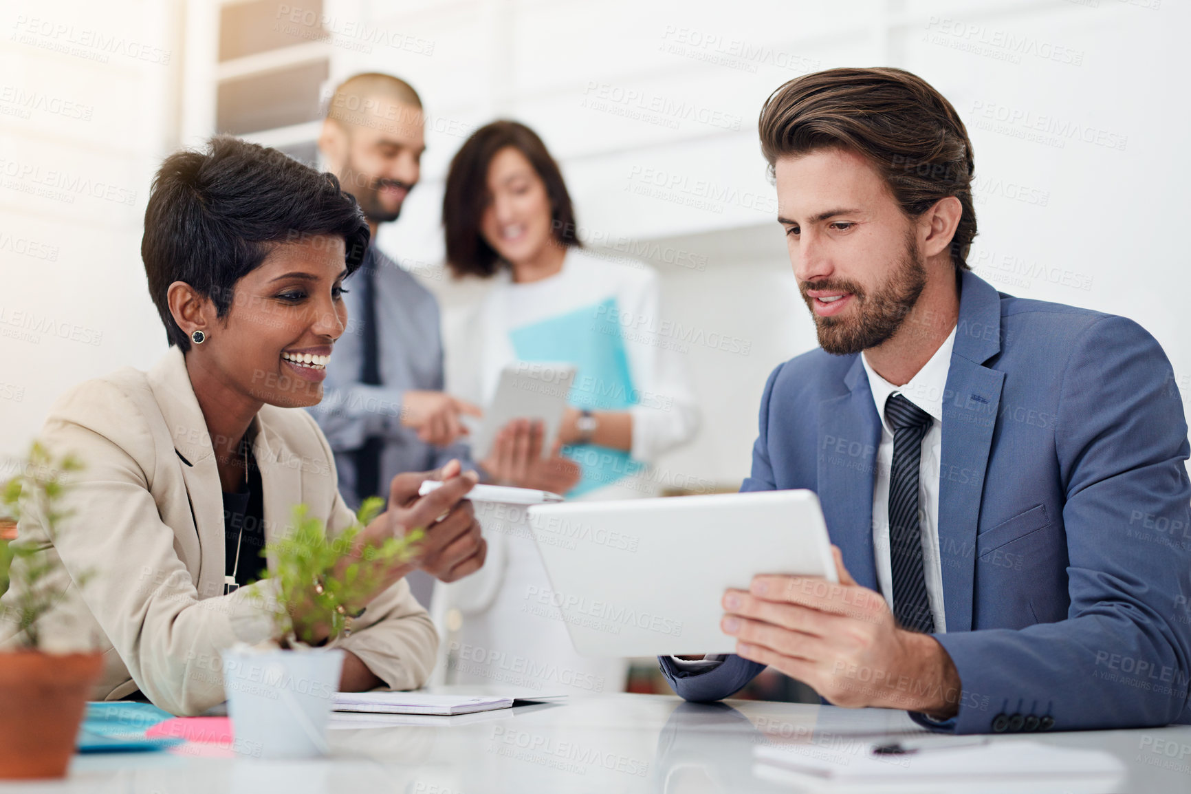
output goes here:
<path id="1" fill-rule="evenodd" d="M 175 142 L 173 2 L 0 10 L 0 458 L 68 386 L 149 366 L 164 333 L 145 289 L 149 180 Z"/>

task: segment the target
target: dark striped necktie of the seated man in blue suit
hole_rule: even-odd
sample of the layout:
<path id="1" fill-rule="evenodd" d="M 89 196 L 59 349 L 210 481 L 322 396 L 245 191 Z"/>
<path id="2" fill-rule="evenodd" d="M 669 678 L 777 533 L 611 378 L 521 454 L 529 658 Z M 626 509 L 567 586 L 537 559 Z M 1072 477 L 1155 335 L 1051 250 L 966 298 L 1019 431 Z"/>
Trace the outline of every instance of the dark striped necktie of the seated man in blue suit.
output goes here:
<path id="1" fill-rule="evenodd" d="M 885 401 L 885 418 L 893 427 L 888 515 L 893 615 L 903 628 L 929 634 L 935 631 L 935 618 L 930 612 L 922 563 L 918 473 L 922 470 L 922 439 L 930 428 L 930 414 L 902 395 L 890 395 Z"/>

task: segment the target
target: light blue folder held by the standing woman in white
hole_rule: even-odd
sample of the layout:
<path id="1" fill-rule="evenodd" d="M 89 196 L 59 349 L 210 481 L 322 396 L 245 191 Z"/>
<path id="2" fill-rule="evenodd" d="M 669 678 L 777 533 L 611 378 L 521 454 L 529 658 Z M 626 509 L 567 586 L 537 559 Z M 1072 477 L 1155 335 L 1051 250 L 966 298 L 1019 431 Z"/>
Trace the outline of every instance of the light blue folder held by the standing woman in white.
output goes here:
<path id="1" fill-rule="evenodd" d="M 629 356 L 617 317 L 616 298 L 576 309 L 509 331 L 513 352 L 522 361 L 573 364 L 575 380 L 568 402 L 575 408 L 601 411 L 625 410 L 640 402 L 632 384 Z M 582 467 L 579 483 L 567 496 L 582 496 L 635 474 L 644 464 L 629 453 L 596 445 L 576 445 L 563 455 Z"/>

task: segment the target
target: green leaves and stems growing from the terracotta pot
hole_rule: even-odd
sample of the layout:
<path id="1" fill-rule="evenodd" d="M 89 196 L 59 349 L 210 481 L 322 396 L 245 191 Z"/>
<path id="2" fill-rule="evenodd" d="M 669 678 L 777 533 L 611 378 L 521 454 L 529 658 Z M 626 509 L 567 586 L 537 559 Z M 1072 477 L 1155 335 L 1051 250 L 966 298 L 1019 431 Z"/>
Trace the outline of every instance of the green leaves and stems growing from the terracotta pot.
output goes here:
<path id="1" fill-rule="evenodd" d="M 52 575 L 62 569 L 62 560 L 50 553 L 50 546 L 60 535 L 62 521 L 73 515 L 73 511 L 63 511 L 58 507 L 70 488 L 64 474 L 81 469 L 77 458 L 68 454 L 55 459 L 35 441 L 19 472 L 0 488 L 0 509 L 6 517 L 19 521 L 21 515 L 33 513 L 40 519 L 49 539 L 49 544 L 8 538 L 0 540 L 0 594 L 7 593 L 10 584 L 13 585 L 13 593 L 6 598 L 8 612 L 17 624 L 17 635 L 29 649 L 40 646 L 37 624 L 62 596 L 51 584 Z M 82 587 L 88 575 L 76 577 L 76 584 Z"/>

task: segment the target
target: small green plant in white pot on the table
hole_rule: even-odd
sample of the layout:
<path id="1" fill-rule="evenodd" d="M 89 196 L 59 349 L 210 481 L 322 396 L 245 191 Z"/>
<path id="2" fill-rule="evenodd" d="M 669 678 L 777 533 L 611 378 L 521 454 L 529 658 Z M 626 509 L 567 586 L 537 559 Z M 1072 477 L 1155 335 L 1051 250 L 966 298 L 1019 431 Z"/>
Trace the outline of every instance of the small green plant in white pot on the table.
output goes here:
<path id="1" fill-rule="evenodd" d="M 276 601 L 268 607 L 273 639 L 223 653 L 227 713 L 243 752 L 268 758 L 326 755 L 343 651 L 325 645 L 350 633 L 347 604 L 364 602 L 386 567 L 409 559 L 424 534 L 419 528 L 379 546 L 362 542 L 360 533 L 382 507 L 379 497 L 366 500 L 355 523 L 328 538 L 324 522 L 311 517 L 307 505 L 295 505 L 288 533 L 262 552 L 273 563 L 267 578 L 276 582 Z M 295 622 L 295 616 L 303 620 Z M 323 646 L 316 646 L 316 634 L 324 633 Z"/>

